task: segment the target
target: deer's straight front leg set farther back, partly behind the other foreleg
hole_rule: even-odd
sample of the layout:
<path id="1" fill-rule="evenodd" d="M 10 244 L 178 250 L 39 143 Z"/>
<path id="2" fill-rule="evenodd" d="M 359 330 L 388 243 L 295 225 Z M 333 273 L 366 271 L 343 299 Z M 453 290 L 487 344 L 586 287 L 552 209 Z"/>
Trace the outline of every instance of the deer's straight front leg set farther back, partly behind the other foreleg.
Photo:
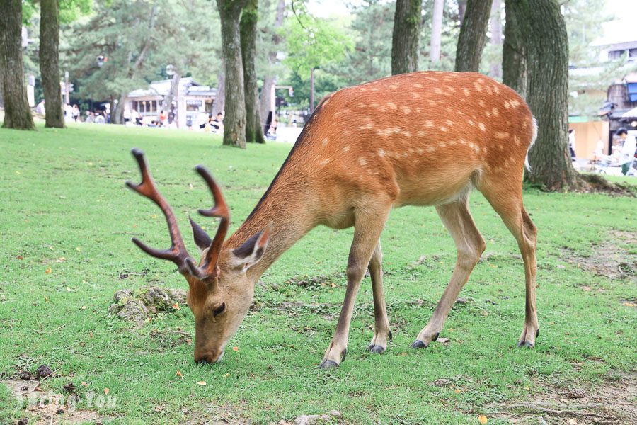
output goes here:
<path id="1" fill-rule="evenodd" d="M 379 241 L 367 267 L 369 268 L 369 276 L 372 278 L 372 293 L 374 294 L 374 338 L 372 338 L 372 343 L 367 347 L 367 351 L 372 353 L 385 351 L 387 343 L 391 339 L 389 319 L 387 318 L 387 309 L 385 307 L 385 294 L 383 293 L 382 259 L 383 253 Z"/>

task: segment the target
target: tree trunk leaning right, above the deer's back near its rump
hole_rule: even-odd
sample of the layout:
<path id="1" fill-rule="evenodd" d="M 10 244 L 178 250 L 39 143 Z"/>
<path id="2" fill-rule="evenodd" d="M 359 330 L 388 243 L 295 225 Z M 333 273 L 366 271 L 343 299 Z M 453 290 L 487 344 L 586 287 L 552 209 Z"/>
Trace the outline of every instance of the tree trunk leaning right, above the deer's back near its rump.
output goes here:
<path id="1" fill-rule="evenodd" d="M 469 0 L 460 28 L 456 50 L 456 71 L 480 70 L 480 58 L 486 42 L 491 0 Z"/>

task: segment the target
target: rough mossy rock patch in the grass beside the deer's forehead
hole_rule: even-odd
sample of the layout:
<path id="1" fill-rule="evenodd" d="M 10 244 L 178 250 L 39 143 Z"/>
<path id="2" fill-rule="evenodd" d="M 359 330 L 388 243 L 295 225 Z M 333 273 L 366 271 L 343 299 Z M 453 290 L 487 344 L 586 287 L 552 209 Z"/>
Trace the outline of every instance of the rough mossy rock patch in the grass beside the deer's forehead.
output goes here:
<path id="1" fill-rule="evenodd" d="M 186 291 L 146 286 L 135 291 L 118 290 L 113 295 L 113 300 L 115 302 L 108 306 L 110 314 L 115 314 L 116 317 L 141 327 L 151 314 L 180 310 L 186 302 Z"/>

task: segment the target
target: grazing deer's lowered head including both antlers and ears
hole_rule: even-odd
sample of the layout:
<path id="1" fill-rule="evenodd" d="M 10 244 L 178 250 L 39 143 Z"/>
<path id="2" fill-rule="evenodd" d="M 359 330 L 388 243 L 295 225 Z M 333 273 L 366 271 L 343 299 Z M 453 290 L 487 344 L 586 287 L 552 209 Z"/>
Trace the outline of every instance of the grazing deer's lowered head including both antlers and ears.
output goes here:
<path id="1" fill-rule="evenodd" d="M 195 244 L 201 252 L 200 261 L 195 262 L 185 249 L 171 206 L 157 191 L 144 152 L 139 149 L 132 149 L 131 152 L 142 171 L 142 183 L 127 181 L 126 185 L 161 208 L 172 244 L 169 249 L 160 250 L 147 246 L 137 238 L 132 238 L 132 242 L 150 256 L 176 263 L 179 272 L 188 281 L 188 307 L 195 315 L 195 361 L 217 362 L 252 303 L 255 279 L 248 276 L 247 272 L 263 258 L 271 225 L 254 234 L 239 248 L 224 249 L 224 239 L 230 226 L 230 210 L 210 172 L 199 165 L 196 167 L 197 173 L 207 183 L 214 199 L 212 208 L 199 210 L 199 213 L 221 220 L 217 234 L 210 239 L 204 229 L 190 219 Z"/>

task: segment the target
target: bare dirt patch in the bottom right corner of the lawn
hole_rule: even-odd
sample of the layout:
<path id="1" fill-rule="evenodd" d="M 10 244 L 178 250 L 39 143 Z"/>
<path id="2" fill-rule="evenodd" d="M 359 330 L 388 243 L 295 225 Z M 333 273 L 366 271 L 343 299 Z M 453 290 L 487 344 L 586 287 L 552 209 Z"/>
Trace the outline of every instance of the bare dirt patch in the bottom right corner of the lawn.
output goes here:
<path id="1" fill-rule="evenodd" d="M 492 406 L 491 416 L 512 424 L 637 424 L 637 373 L 612 375 L 598 385 L 557 386 L 539 382 L 547 391 Z"/>

